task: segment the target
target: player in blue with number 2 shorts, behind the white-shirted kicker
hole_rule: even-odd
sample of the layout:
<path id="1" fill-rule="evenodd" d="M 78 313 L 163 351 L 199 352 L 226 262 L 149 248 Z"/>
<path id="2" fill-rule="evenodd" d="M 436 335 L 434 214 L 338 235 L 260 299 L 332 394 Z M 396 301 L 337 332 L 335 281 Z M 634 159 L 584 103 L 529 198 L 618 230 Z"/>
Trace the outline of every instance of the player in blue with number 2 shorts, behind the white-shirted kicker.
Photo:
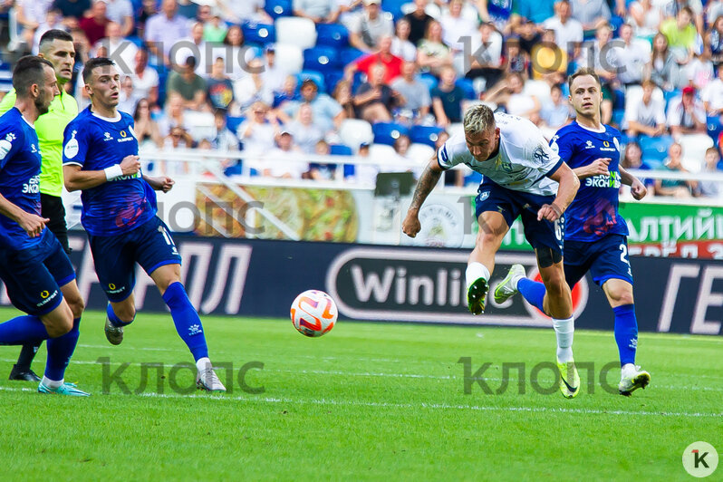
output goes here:
<path id="1" fill-rule="evenodd" d="M 621 134 L 600 120 L 603 93 L 595 72 L 581 69 L 570 76 L 568 84 L 576 120 L 558 130 L 551 142 L 581 179 L 580 190 L 566 213 L 565 279 L 572 288 L 589 271 L 595 284 L 603 288 L 615 315 L 615 342 L 622 367 L 618 390 L 629 396 L 644 389 L 651 375 L 635 366 L 638 323 L 628 260 L 628 226 L 618 212 L 618 195 L 621 184 L 631 187 L 635 199 L 645 197 L 647 189 L 620 166 Z M 522 265 L 512 266 L 497 287 L 495 299 L 503 303 L 518 290 L 545 312 L 545 286 L 527 279 Z"/>

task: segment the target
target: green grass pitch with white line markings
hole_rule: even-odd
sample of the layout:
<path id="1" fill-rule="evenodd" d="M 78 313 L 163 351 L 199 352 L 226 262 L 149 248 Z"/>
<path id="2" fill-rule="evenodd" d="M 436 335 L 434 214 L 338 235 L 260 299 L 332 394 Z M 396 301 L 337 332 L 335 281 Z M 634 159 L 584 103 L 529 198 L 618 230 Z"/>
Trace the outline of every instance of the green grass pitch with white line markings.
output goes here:
<path id="1" fill-rule="evenodd" d="M 0 309 L 0 320 L 16 312 Z M 169 369 L 192 362 L 169 315 L 140 313 L 114 347 L 104 313 L 83 316 L 81 339 L 66 373 L 89 399 L 44 396 L 36 384 L 7 381 L 17 347 L 0 350 L 0 452 L 5 477 L 78 480 L 407 479 L 629 480 L 687 479 L 689 443 L 723 452 L 723 339 L 641 334 L 638 362 L 651 371 L 647 390 L 623 398 L 595 383 L 564 400 L 532 390 L 529 372 L 554 362 L 550 330 L 412 324 L 338 323 L 321 339 L 296 333 L 288 320 L 205 317 L 214 362 L 263 362 L 249 394 L 169 390 Z M 575 333 L 578 361 L 597 368 L 617 359 L 612 333 Z M 164 394 L 155 371 L 141 395 L 117 385 L 102 394 L 99 357 L 138 387 L 140 363 L 166 363 Z M 503 362 L 525 362 L 504 394 L 472 386 L 464 394 L 460 357 L 495 390 Z M 45 346 L 34 370 L 42 373 Z M 219 371 L 222 380 L 223 371 Z M 597 376 L 597 373 L 595 374 Z M 617 383 L 619 371 L 610 373 Z M 190 371 L 178 383 L 192 384 Z M 554 376 L 542 371 L 540 384 Z M 718 468 L 713 477 L 718 477 Z"/>

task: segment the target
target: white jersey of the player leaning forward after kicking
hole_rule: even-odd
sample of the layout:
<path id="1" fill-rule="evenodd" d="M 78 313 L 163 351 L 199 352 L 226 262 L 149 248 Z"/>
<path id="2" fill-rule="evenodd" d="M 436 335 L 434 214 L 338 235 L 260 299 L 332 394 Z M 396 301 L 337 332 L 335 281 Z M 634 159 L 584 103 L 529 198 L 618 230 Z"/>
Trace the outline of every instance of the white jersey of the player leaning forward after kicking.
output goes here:
<path id="1" fill-rule="evenodd" d="M 450 169 L 467 164 L 499 186 L 530 194 L 557 194 L 557 182 L 547 178 L 562 159 L 547 144 L 542 131 L 531 121 L 503 113 L 495 114 L 499 128 L 499 153 L 495 158 L 479 162 L 467 148 L 463 132 L 453 135 L 437 153 L 439 166 Z"/>

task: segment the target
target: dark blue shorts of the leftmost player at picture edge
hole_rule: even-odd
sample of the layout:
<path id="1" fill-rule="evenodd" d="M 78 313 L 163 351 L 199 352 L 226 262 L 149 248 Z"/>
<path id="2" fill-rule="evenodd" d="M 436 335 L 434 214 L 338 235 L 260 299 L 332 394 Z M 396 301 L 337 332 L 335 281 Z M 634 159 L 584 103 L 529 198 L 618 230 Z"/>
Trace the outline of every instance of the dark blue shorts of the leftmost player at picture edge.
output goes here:
<path id="1" fill-rule="evenodd" d="M 18 310 L 35 316 L 52 312 L 63 301 L 60 287 L 75 279 L 71 260 L 50 229 L 35 246 L 0 249 L 0 278 Z"/>

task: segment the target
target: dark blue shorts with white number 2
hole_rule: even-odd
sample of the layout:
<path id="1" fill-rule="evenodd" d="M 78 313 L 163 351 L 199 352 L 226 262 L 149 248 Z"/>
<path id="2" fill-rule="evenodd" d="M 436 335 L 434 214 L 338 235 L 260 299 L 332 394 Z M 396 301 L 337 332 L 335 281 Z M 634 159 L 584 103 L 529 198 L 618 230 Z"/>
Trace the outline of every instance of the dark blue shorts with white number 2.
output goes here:
<path id="1" fill-rule="evenodd" d="M 632 284 L 627 238 L 608 235 L 593 242 L 565 241 L 564 277 L 567 284 L 573 287 L 588 271 L 598 286 L 612 278 Z"/>

